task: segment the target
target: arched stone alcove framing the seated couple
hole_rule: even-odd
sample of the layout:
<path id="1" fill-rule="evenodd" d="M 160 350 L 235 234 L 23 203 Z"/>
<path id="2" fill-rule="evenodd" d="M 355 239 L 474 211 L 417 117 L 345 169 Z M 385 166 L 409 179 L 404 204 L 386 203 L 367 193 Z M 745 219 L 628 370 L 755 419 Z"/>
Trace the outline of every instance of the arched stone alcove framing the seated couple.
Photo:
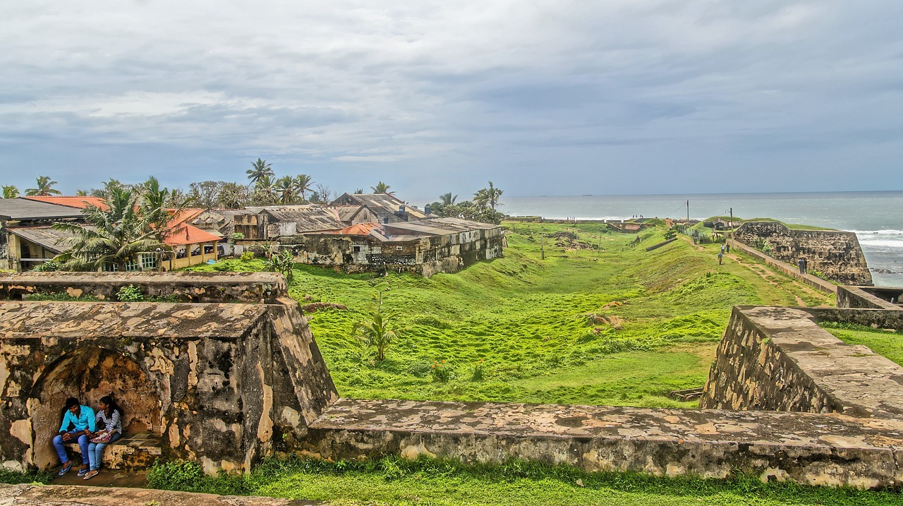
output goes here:
<path id="1" fill-rule="evenodd" d="M 34 435 L 33 463 L 39 468 L 57 462 L 50 444 L 57 434 L 66 398 L 79 398 L 97 409 L 111 395 L 125 411 L 126 434 L 162 431 L 161 399 L 152 375 L 126 355 L 98 346 L 82 346 L 47 366 L 34 382 L 28 399 Z"/>

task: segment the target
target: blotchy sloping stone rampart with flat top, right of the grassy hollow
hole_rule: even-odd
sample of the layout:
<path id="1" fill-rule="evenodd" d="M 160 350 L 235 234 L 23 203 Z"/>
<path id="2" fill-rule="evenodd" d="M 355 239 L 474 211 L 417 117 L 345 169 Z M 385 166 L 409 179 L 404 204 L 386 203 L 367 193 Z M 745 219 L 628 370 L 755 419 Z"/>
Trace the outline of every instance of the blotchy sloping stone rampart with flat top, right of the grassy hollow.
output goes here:
<path id="1" fill-rule="evenodd" d="M 870 314 L 856 323 L 903 323 L 903 312 L 735 306 L 700 408 L 903 419 L 903 368 L 815 323 L 855 314 Z"/>

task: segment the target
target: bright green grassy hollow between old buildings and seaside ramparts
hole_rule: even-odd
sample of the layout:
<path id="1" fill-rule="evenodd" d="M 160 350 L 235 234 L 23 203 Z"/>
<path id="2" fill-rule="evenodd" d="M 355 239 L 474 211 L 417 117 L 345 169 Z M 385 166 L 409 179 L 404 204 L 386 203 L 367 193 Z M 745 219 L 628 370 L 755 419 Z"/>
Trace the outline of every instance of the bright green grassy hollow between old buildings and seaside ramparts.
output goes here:
<path id="1" fill-rule="evenodd" d="M 429 279 L 298 266 L 295 298 L 349 307 L 308 315 L 340 395 L 690 407 L 666 393 L 703 385 L 731 305 L 796 305 L 786 288 L 731 258 L 718 266 L 714 245 L 700 251 L 679 240 L 647 252 L 660 234 L 645 231 L 639 247 L 627 248 L 635 236 L 604 233 L 598 254 L 546 238 L 542 260 L 538 230 L 517 224 L 506 258 Z M 598 225 L 544 230 L 600 241 Z M 397 313 L 399 334 L 379 363 L 349 335 L 378 291 Z M 591 323 L 588 314 L 620 322 Z M 473 380 L 480 360 L 484 378 Z M 452 370 L 451 380 L 433 380 L 437 361 Z"/>

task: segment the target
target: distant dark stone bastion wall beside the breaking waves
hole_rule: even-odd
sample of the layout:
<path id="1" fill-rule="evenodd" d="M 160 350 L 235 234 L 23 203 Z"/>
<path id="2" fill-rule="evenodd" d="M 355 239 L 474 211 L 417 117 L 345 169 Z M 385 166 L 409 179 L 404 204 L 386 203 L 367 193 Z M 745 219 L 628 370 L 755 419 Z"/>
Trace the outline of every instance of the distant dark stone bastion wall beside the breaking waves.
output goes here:
<path id="1" fill-rule="evenodd" d="M 796 265 L 800 257 L 810 271 L 845 285 L 870 286 L 871 273 L 853 232 L 842 230 L 791 230 L 777 221 L 746 221 L 736 230 L 736 239 L 750 246 L 760 239 L 771 244 L 771 256 Z"/>

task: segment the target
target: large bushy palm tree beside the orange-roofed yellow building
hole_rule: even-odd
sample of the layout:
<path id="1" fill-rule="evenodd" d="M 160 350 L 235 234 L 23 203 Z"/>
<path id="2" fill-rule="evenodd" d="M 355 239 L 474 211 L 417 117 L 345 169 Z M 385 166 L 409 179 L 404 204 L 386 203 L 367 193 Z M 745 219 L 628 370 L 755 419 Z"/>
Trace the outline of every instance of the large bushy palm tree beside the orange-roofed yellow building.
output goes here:
<path id="1" fill-rule="evenodd" d="M 64 239 L 70 248 L 54 258 L 62 263 L 63 270 L 101 270 L 112 266 L 124 271 L 127 263 L 138 260 L 139 254 L 169 248 L 141 214 L 135 192 L 114 188 L 105 203 L 106 209 L 88 205 L 82 211 L 85 224 L 53 224 L 54 229 L 73 236 Z"/>

